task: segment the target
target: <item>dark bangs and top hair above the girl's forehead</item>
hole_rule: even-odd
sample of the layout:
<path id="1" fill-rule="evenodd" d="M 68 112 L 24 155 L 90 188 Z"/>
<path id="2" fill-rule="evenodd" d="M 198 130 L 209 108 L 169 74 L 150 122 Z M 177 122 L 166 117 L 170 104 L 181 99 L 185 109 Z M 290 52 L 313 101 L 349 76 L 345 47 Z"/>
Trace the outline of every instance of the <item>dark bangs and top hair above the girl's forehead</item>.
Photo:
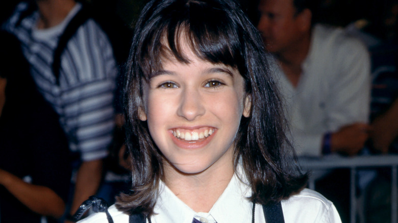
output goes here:
<path id="1" fill-rule="evenodd" d="M 146 78 L 162 69 L 165 61 L 190 63 L 188 54 L 213 64 L 244 67 L 238 24 L 225 10 L 203 2 L 177 1 L 153 20 L 141 54 L 141 68 Z M 161 27 L 161 29 L 159 29 Z M 219 29 L 223 27 L 223 29 Z M 189 50 L 187 52 L 187 50 Z M 242 66 L 239 66 L 242 65 Z"/>

